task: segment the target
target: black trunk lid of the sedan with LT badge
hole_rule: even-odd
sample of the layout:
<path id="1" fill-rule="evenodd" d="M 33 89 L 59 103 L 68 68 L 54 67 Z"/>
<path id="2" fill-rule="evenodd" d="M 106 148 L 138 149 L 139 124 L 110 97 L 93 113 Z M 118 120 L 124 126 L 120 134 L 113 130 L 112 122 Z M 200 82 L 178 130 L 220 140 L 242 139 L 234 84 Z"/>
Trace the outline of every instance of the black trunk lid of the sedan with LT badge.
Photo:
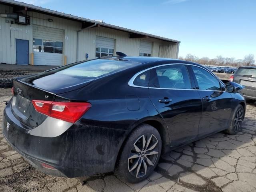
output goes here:
<path id="1" fill-rule="evenodd" d="M 78 78 L 50 72 L 14 78 L 12 113 L 28 129 L 35 128 L 42 124 L 48 116 L 37 112 L 32 100 L 54 101 L 57 94 L 76 90 L 88 85 L 90 82 L 92 82 L 91 79 L 79 80 Z"/>

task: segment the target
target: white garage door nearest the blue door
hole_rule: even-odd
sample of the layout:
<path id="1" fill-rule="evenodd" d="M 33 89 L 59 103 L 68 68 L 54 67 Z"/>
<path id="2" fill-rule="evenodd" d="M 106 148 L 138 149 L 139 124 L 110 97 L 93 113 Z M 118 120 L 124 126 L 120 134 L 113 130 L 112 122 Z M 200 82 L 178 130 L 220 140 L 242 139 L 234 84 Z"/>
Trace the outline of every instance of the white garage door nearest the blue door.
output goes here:
<path id="1" fill-rule="evenodd" d="M 34 65 L 62 65 L 64 30 L 33 25 Z"/>

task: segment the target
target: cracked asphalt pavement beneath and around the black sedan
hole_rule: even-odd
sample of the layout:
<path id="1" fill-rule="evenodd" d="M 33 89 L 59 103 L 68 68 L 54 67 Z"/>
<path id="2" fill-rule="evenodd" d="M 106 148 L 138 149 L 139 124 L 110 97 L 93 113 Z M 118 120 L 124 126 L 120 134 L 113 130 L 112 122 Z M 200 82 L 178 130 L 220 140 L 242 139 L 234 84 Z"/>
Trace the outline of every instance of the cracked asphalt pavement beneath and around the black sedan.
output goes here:
<path id="1" fill-rule="evenodd" d="M 0 126 L 4 101 L 10 99 L 10 92 L 0 89 Z M 256 106 L 248 102 L 237 135 L 220 132 L 178 148 L 162 157 L 154 173 L 138 184 L 123 183 L 112 173 L 72 179 L 43 174 L 7 144 L 0 127 L 0 191 L 256 191 Z"/>

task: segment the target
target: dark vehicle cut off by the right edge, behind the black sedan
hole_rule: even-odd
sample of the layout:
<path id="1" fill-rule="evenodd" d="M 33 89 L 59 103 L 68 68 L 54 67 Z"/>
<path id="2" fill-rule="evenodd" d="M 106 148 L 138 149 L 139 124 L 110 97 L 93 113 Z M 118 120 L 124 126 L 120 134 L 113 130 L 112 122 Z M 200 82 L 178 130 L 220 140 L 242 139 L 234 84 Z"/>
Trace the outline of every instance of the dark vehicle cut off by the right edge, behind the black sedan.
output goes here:
<path id="1" fill-rule="evenodd" d="M 245 98 L 256 100 L 256 67 L 239 67 L 229 80 L 244 86 Z"/>

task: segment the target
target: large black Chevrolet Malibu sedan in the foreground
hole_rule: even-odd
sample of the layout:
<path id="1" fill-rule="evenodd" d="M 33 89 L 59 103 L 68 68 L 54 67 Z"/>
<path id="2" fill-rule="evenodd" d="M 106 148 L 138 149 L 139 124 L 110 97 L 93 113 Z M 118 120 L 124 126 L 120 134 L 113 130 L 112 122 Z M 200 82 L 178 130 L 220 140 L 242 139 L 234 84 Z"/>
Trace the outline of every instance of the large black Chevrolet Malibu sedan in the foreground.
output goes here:
<path id="1" fill-rule="evenodd" d="M 13 82 L 4 137 L 55 176 L 114 171 L 140 182 L 161 154 L 222 130 L 236 134 L 246 110 L 235 83 L 168 58 L 102 57 Z"/>

